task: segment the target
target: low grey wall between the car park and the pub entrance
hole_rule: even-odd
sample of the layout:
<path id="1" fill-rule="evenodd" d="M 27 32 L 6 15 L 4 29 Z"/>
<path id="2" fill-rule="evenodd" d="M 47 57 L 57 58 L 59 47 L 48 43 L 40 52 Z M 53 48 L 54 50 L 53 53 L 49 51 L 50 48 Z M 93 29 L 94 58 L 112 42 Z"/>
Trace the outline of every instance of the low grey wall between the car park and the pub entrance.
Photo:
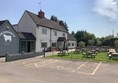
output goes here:
<path id="1" fill-rule="evenodd" d="M 32 52 L 32 53 L 20 53 L 20 54 L 6 54 L 5 61 L 15 61 L 15 60 L 20 60 L 20 59 L 26 59 L 26 58 L 31 58 L 31 57 L 36 57 L 36 56 L 41 56 L 44 55 L 44 52 Z"/>

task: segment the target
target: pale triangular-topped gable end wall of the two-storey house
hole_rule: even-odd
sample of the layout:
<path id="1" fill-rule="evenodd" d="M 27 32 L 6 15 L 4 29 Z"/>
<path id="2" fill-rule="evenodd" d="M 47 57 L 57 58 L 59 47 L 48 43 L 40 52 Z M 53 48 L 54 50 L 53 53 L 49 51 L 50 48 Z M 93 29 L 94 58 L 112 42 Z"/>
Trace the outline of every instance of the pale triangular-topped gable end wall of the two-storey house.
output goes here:
<path id="1" fill-rule="evenodd" d="M 19 23 L 18 23 L 18 31 L 20 32 L 30 32 L 34 36 L 36 36 L 36 24 L 28 15 L 27 12 L 23 14 Z"/>

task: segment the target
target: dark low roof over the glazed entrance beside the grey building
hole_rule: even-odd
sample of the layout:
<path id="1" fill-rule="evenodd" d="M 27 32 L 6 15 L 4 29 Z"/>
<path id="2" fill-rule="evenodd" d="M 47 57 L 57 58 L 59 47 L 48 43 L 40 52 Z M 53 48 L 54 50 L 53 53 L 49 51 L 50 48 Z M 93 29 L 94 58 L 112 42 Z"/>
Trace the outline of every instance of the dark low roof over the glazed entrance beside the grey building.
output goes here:
<path id="1" fill-rule="evenodd" d="M 36 40 L 32 33 L 19 32 L 18 35 L 21 40 Z"/>

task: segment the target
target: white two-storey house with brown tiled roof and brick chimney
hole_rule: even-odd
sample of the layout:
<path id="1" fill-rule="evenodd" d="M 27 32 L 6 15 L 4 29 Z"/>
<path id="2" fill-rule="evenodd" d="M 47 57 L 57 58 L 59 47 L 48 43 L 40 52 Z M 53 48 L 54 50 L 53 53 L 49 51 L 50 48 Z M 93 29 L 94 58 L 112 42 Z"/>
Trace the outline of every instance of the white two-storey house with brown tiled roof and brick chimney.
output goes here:
<path id="1" fill-rule="evenodd" d="M 14 26 L 18 32 L 32 33 L 36 37 L 35 50 L 40 52 L 48 47 L 63 47 L 60 39 L 68 39 L 68 31 L 58 22 L 45 18 L 45 13 L 40 11 L 38 14 L 25 11 L 18 25 Z M 76 47 L 76 41 L 71 48 Z M 57 43 L 58 42 L 58 43 Z M 69 40 L 70 42 L 70 40 Z M 28 46 L 30 47 L 30 46 Z"/>

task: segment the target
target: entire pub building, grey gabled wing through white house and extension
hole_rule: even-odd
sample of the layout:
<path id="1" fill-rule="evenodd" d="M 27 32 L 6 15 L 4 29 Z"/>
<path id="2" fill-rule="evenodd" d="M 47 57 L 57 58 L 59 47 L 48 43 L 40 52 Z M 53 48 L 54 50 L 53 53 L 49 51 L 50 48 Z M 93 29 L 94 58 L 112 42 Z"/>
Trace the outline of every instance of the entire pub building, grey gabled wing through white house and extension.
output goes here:
<path id="1" fill-rule="evenodd" d="M 45 48 L 75 49 L 76 39 L 67 29 L 45 18 L 43 11 L 25 11 L 16 25 L 0 21 L 0 56 L 5 53 L 41 52 Z"/>

